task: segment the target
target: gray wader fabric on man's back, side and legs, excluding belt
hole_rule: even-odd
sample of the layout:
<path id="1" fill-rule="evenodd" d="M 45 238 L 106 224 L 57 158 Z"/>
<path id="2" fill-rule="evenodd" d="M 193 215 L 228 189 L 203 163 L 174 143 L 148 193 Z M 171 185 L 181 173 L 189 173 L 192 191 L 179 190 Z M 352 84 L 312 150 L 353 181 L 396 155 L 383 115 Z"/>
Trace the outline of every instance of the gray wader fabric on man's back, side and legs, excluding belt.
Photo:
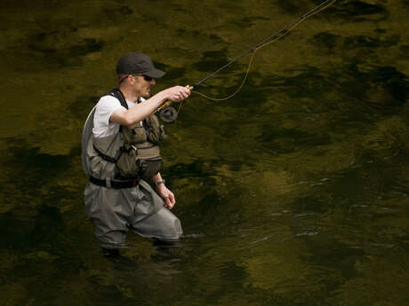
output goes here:
<path id="1" fill-rule="evenodd" d="M 108 137 L 93 137 L 93 116 L 89 114 L 82 137 L 82 161 L 84 172 L 99 180 L 120 182 L 116 165 L 104 160 L 95 148 L 108 155 L 119 156 L 124 144 L 121 133 Z M 124 246 L 125 233 L 129 229 L 143 237 L 177 240 L 182 235 L 180 220 L 167 208 L 164 201 L 143 180 L 130 188 L 109 188 L 88 184 L 84 191 L 85 211 L 92 221 L 95 235 L 104 245 Z"/>

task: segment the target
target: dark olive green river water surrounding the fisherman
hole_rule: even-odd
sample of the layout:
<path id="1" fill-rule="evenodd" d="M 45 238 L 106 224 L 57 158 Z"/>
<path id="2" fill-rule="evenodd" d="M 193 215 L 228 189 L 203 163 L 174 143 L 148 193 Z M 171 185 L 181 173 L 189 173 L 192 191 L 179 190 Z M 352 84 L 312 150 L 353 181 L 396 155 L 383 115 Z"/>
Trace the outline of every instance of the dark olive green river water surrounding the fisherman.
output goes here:
<path id="1" fill-rule="evenodd" d="M 192 84 L 319 1 L 0 4 L 1 305 L 409 305 L 409 2 L 339 1 L 192 94 L 163 147 L 186 239 L 100 254 L 80 135 L 116 59 Z M 248 58 L 197 88 L 236 89 Z"/>

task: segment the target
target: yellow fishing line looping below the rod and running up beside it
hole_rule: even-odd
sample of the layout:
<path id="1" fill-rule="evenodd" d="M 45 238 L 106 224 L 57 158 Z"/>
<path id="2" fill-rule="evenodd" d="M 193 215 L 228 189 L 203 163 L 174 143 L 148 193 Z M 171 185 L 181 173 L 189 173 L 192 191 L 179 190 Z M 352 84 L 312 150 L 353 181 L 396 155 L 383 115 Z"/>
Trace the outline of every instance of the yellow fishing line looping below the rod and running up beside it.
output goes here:
<path id="1" fill-rule="evenodd" d="M 309 17 L 311 17 L 311 16 L 317 14 L 318 12 L 324 11 L 326 8 L 328 8 L 328 7 L 331 6 L 333 3 L 335 3 L 335 1 L 336 1 L 336 0 L 332 0 L 332 1 L 330 1 L 330 2 L 325 1 L 325 2 L 322 3 L 322 4 L 319 4 L 316 8 L 312 9 L 311 11 L 307 12 L 305 15 L 301 16 L 301 18 L 300 18 L 299 20 L 293 21 L 293 24 L 290 24 L 290 26 L 284 27 L 282 30 L 278 31 L 277 34 L 272 35 L 272 36 L 268 37 L 267 39 L 265 39 L 264 41 L 267 41 L 266 43 L 264 43 L 264 41 L 263 41 L 263 42 L 261 42 L 259 45 L 257 45 L 256 47 L 253 47 L 253 48 L 250 50 L 250 51 L 253 51 L 253 53 L 252 53 L 252 56 L 251 56 L 251 58 L 250 58 L 250 60 L 249 60 L 248 65 L 247 65 L 247 69 L 246 69 L 246 71 L 245 71 L 245 77 L 243 78 L 243 81 L 241 82 L 241 84 L 238 86 L 237 90 L 235 90 L 235 92 L 233 92 L 233 93 L 230 94 L 229 96 L 224 97 L 224 98 L 213 98 L 213 97 L 207 96 L 207 95 L 205 95 L 205 94 L 203 94 L 203 93 L 201 93 L 201 92 L 199 92 L 199 91 L 196 91 L 196 90 L 191 90 L 191 92 L 194 92 L 194 93 L 198 94 L 199 96 L 202 96 L 202 97 L 207 98 L 207 99 L 212 100 L 212 101 L 225 101 L 225 100 L 228 100 L 229 98 L 233 98 L 233 97 L 236 96 L 237 93 L 243 88 L 243 85 L 245 84 L 245 81 L 247 80 L 247 77 L 248 77 L 249 72 L 250 72 L 250 68 L 252 67 L 252 64 L 253 64 L 254 56 L 255 56 L 255 54 L 256 54 L 257 51 L 259 51 L 261 48 L 264 48 L 265 46 L 269 45 L 270 43 L 274 43 L 274 42 L 276 42 L 278 39 L 283 38 L 285 35 L 287 35 L 288 33 L 290 33 L 291 30 L 292 30 L 294 27 L 297 27 L 303 20 L 308 19 Z M 327 2 L 328 2 L 328 3 L 327 3 Z M 327 4 L 325 4 L 325 3 L 327 3 Z M 276 35 L 277 35 L 277 36 L 276 36 Z M 271 39 L 269 39 L 269 38 L 271 38 Z M 239 58 L 241 58 L 241 57 L 239 57 Z M 238 59 L 239 59 L 239 58 L 238 58 Z M 233 61 L 233 62 L 234 62 L 234 61 Z M 230 62 L 230 63 L 233 63 L 233 62 Z M 229 64 L 230 64 L 230 63 L 229 63 Z M 229 64 L 226 65 L 226 66 L 224 66 L 224 67 L 229 66 Z M 222 68 L 223 68 L 223 67 L 222 67 Z M 220 70 L 221 70 L 221 69 L 216 70 L 212 75 L 214 75 L 215 73 L 219 72 Z M 210 75 L 210 76 L 212 76 L 212 75 Z M 208 77 L 210 77 L 210 76 L 208 76 Z M 205 78 L 203 81 L 201 81 L 201 82 L 204 82 L 208 77 L 206 77 L 206 78 Z M 200 82 L 198 82 L 198 83 L 196 84 L 196 86 L 197 86 L 199 83 L 200 83 Z M 180 112 L 180 108 L 181 108 L 181 106 L 182 106 L 182 103 L 183 103 L 183 101 L 180 102 L 180 106 L 178 107 L 178 114 L 179 114 L 179 112 Z"/>

